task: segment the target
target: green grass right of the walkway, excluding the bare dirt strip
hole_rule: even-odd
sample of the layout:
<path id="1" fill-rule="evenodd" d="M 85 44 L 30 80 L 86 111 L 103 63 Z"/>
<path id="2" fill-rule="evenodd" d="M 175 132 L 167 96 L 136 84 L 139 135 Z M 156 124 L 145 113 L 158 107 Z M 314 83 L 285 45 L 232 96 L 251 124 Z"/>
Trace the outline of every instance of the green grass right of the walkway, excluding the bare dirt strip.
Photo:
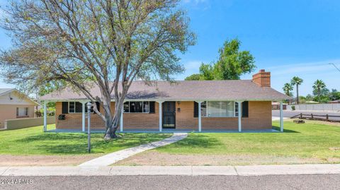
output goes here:
<path id="1" fill-rule="evenodd" d="M 273 122 L 278 129 L 278 121 Z M 183 141 L 157 148 L 159 153 L 202 155 L 277 155 L 301 158 L 340 158 L 340 126 L 294 124 L 285 133 L 191 133 Z"/>

